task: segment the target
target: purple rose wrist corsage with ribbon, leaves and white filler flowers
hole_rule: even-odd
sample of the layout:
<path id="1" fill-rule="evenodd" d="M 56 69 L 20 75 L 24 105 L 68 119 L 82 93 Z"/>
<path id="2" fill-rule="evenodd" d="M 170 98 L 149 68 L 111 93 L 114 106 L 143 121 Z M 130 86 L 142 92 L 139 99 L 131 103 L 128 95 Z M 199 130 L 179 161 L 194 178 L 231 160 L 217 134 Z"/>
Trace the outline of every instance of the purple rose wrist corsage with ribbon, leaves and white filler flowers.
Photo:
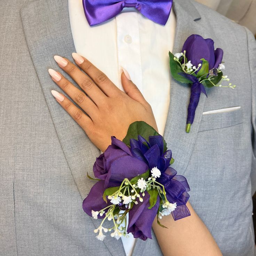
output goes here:
<path id="1" fill-rule="evenodd" d="M 83 201 L 89 216 L 102 219 L 94 230 L 97 239 L 103 241 L 104 233 L 110 232 L 116 239 L 132 233 L 146 240 L 152 238 L 155 216 L 164 227 L 159 221 L 164 215 L 172 214 L 175 220 L 190 215 L 186 207 L 189 185 L 170 167 L 174 162 L 171 150 L 157 131 L 137 121 L 123 141 L 111 139 L 112 144 L 96 159 L 97 183 Z M 111 221 L 113 227 L 106 228 L 105 221 Z"/>

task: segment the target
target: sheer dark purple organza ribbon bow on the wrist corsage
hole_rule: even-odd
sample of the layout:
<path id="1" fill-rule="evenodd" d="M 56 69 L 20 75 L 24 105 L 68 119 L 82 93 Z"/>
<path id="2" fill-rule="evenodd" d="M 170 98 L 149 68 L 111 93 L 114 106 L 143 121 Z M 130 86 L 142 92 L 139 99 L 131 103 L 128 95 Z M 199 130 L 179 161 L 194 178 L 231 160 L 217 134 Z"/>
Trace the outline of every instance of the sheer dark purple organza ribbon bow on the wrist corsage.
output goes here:
<path id="1" fill-rule="evenodd" d="M 156 181 L 165 187 L 167 200 L 170 203 L 177 203 L 177 209 L 171 212 L 175 221 L 189 216 L 186 203 L 189 200 L 187 192 L 190 191 L 190 187 L 186 178 L 176 175 L 177 171 L 170 167 L 172 153 L 171 150 L 163 152 L 163 137 L 149 136 L 149 142 L 147 142 L 145 138 L 138 135 L 138 140 L 130 139 L 130 145 L 134 157 L 145 162 L 149 169 L 157 167 L 161 171 L 161 176 Z"/>

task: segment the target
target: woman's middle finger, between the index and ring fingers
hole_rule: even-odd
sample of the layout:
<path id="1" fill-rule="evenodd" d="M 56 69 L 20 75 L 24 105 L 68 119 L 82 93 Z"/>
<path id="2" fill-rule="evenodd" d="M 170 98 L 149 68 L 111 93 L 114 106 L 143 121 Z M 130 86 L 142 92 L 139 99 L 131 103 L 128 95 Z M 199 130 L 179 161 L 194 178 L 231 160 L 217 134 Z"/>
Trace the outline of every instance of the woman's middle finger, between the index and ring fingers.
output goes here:
<path id="1" fill-rule="evenodd" d="M 58 63 L 69 76 L 77 82 L 82 90 L 95 102 L 96 105 L 101 104 L 106 99 L 106 95 L 94 83 L 94 81 L 83 73 L 77 66 L 71 63 L 68 59 L 61 56 L 54 56 L 55 61 Z"/>

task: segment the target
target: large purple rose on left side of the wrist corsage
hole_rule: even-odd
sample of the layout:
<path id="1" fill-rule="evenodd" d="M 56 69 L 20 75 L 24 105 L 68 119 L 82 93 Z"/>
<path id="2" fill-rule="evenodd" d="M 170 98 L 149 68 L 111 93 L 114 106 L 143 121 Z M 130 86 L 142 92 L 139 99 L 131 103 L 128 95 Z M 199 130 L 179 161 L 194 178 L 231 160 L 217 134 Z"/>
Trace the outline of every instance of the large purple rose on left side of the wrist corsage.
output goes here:
<path id="1" fill-rule="evenodd" d="M 132 179 L 149 169 L 145 162 L 131 154 L 129 147 L 115 137 L 111 137 L 111 145 L 94 163 L 93 171 L 96 178 L 101 179 L 90 190 L 83 200 L 83 210 L 91 216 L 91 210 L 99 211 L 110 205 L 103 200 L 103 193 L 108 187 L 120 186 L 123 179 Z M 99 218 L 103 218 L 103 216 Z"/>

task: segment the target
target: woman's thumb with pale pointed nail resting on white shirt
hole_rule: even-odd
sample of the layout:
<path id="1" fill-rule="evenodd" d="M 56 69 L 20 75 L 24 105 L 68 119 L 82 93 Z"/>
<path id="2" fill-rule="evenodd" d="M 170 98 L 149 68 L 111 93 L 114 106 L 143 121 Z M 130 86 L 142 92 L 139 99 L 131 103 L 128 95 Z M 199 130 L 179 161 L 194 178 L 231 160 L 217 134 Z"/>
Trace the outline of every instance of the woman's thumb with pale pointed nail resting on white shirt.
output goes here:
<path id="1" fill-rule="evenodd" d="M 142 93 L 138 89 L 138 87 L 131 81 L 130 75 L 126 69 L 122 68 L 123 72 L 121 74 L 121 82 L 123 89 L 125 90 L 126 94 L 134 99 L 135 101 L 145 104 L 146 100 L 143 97 Z"/>

